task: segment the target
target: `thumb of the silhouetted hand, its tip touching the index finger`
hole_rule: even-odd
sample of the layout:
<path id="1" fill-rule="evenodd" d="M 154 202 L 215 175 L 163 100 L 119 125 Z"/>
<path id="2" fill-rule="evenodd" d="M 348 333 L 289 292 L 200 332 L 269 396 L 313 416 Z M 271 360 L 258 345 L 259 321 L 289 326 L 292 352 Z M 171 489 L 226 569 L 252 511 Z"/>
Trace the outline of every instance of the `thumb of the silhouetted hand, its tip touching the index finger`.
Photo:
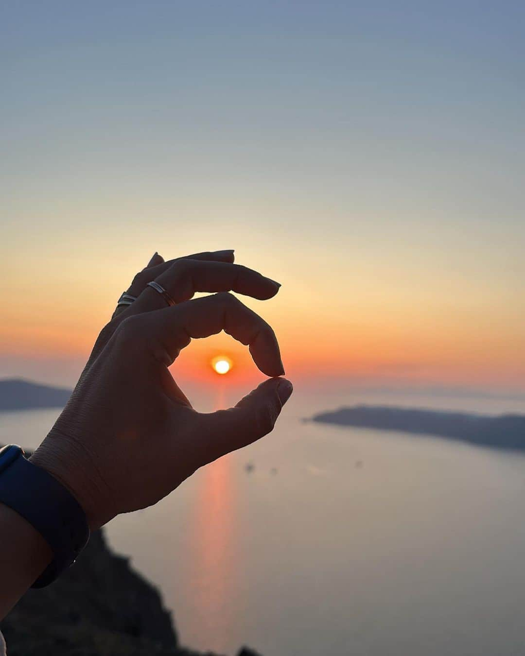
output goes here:
<path id="1" fill-rule="evenodd" d="M 202 464 L 241 449 L 271 432 L 292 391 L 289 380 L 272 378 L 262 382 L 235 407 L 200 415 Z"/>

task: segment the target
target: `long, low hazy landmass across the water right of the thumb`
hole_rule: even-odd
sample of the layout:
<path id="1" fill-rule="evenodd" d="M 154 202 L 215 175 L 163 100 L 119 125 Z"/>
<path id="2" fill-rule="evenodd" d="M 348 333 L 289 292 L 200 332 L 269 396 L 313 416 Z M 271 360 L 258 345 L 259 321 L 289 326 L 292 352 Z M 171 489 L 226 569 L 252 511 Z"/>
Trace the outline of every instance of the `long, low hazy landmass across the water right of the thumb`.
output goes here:
<path id="1" fill-rule="evenodd" d="M 427 434 L 495 449 L 525 450 L 524 415 L 488 417 L 387 405 L 355 405 L 320 413 L 312 417 L 312 421 Z"/>

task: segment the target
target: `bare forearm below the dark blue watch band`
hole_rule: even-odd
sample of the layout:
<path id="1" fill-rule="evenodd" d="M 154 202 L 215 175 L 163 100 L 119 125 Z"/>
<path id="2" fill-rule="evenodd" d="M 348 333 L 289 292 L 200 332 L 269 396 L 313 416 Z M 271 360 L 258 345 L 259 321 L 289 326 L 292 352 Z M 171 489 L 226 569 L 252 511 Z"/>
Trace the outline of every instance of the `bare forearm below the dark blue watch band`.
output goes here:
<path id="1" fill-rule="evenodd" d="M 49 544 L 14 510 L 0 503 L 0 619 L 51 562 Z"/>

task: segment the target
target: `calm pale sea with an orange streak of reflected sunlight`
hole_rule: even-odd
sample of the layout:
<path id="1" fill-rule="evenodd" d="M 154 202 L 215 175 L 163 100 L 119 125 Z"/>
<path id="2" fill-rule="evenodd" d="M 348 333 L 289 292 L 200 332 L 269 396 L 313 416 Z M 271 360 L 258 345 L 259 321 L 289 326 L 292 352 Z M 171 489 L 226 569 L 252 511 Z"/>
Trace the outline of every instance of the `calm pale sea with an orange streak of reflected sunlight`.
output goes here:
<path id="1" fill-rule="evenodd" d="M 161 588 L 184 644 L 265 656 L 525 653 L 525 456 L 301 421 L 362 400 L 525 412 L 297 390 L 268 438 L 108 527 Z M 0 441 L 35 446 L 57 414 L 0 415 Z"/>

